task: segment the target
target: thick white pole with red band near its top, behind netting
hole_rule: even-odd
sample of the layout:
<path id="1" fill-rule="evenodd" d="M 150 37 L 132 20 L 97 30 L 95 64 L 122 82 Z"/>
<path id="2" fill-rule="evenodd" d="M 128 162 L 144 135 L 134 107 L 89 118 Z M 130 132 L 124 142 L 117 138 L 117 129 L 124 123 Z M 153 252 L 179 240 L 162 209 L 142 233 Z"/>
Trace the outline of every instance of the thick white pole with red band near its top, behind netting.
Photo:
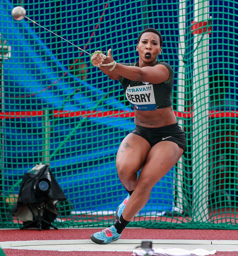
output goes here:
<path id="1" fill-rule="evenodd" d="M 194 21 L 209 19 L 209 1 L 194 0 Z M 202 29 L 203 30 L 203 29 Z M 209 35 L 194 34 L 193 70 L 193 218 L 208 220 Z"/>

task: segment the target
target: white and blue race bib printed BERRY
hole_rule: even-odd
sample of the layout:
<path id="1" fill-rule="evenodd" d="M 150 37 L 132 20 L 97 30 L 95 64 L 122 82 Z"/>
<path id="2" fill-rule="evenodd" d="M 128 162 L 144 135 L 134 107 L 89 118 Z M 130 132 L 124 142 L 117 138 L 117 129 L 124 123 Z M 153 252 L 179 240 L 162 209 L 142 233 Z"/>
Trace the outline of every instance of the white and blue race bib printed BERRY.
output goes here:
<path id="1" fill-rule="evenodd" d="M 154 95 L 154 89 L 152 84 L 145 84 L 145 85 L 133 86 L 133 87 L 130 87 L 129 85 L 126 90 L 126 97 L 134 109 L 137 109 L 137 110 L 156 109 L 155 95 Z"/>

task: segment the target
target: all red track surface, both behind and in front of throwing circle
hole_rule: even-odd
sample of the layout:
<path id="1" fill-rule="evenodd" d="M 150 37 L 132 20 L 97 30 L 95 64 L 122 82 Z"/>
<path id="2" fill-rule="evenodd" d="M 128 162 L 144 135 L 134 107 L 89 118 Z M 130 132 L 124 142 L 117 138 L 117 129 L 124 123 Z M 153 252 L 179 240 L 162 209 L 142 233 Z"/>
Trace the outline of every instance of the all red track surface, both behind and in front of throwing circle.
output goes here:
<path id="1" fill-rule="evenodd" d="M 101 228 L 60 228 L 58 230 L 37 229 L 0 230 L 0 241 L 28 241 L 28 240 L 73 240 L 89 239 L 92 233 Z M 238 230 L 203 230 L 203 229 L 146 229 L 126 228 L 121 239 L 186 239 L 186 240 L 238 240 Z M 106 246 L 106 245 L 102 245 Z M 134 248 L 132 248 L 133 251 Z M 4 249 L 7 256 L 129 256 L 131 252 L 58 252 Z M 217 252 L 216 256 L 238 256 L 238 252 Z"/>

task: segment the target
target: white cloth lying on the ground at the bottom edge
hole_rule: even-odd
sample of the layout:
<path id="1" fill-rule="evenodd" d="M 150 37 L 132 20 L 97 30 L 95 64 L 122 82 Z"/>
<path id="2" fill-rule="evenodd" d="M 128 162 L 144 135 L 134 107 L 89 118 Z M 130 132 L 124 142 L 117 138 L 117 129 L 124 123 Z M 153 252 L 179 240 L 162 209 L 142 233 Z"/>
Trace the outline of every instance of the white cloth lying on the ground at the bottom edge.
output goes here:
<path id="1" fill-rule="evenodd" d="M 192 251 L 184 250 L 184 249 L 160 249 L 160 248 L 152 248 L 152 251 L 147 252 L 147 255 L 151 256 L 206 256 L 215 254 L 217 251 L 213 250 L 211 252 L 204 249 L 195 249 Z M 133 250 L 134 256 L 144 256 L 146 255 L 146 251 L 144 250 Z"/>

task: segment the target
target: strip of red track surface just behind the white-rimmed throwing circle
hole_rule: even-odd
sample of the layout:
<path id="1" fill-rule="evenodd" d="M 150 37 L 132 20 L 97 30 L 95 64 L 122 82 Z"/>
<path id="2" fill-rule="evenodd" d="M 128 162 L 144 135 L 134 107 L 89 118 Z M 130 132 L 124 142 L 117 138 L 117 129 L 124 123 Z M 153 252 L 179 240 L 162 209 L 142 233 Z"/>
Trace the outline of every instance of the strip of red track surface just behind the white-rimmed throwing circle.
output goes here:
<path id="1" fill-rule="evenodd" d="M 101 230 L 102 228 L 59 228 L 42 231 L 3 229 L 0 230 L 0 241 L 90 239 L 91 234 Z M 238 230 L 126 228 L 121 239 L 238 240 Z"/>

